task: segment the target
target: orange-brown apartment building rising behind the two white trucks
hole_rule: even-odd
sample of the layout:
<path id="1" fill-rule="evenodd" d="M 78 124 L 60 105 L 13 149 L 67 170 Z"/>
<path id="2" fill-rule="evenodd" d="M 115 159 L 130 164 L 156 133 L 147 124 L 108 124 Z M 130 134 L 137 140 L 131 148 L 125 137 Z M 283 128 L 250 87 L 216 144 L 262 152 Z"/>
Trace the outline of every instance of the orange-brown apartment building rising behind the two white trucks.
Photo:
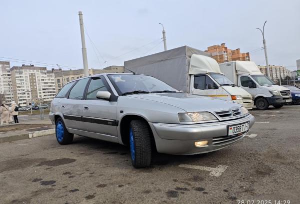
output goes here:
<path id="1" fill-rule="evenodd" d="M 239 48 L 231 50 L 225 46 L 225 43 L 207 47 L 207 50 L 205 50 L 205 52 L 211 53 L 211 57 L 215 59 L 217 63 L 235 60 L 250 61 L 249 52 L 241 53 Z"/>

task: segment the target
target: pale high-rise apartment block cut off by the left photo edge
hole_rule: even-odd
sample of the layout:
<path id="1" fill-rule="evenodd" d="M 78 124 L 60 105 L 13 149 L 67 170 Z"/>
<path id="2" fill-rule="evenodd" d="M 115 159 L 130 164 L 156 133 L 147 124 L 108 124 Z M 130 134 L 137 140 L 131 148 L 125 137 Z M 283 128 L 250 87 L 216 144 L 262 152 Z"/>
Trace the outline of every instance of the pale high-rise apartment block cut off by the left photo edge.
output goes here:
<path id="1" fill-rule="evenodd" d="M 0 94 L 5 96 L 7 105 L 13 101 L 12 86 L 10 77 L 10 63 L 7 61 L 0 61 Z"/>

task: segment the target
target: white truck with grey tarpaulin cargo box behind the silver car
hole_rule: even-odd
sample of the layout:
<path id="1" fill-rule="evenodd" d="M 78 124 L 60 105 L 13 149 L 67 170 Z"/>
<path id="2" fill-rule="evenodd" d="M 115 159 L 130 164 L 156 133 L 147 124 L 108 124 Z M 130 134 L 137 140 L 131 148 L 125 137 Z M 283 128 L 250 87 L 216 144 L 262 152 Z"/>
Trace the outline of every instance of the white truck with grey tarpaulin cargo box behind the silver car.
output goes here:
<path id="1" fill-rule="evenodd" d="M 253 106 L 252 96 L 224 76 L 208 53 L 188 46 L 125 61 L 124 69 L 153 76 L 185 93 Z"/>

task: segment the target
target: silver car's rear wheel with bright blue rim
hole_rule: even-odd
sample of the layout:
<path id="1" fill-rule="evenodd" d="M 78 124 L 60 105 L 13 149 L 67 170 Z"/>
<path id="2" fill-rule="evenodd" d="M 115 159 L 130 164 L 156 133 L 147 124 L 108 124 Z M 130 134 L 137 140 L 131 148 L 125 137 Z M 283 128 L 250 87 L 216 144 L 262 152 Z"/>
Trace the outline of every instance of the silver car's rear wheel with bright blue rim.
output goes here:
<path id="1" fill-rule="evenodd" d="M 73 141 L 74 137 L 73 134 L 69 133 L 66 130 L 63 120 L 61 118 L 58 118 L 55 122 L 55 136 L 57 142 L 60 145 L 70 144 Z"/>

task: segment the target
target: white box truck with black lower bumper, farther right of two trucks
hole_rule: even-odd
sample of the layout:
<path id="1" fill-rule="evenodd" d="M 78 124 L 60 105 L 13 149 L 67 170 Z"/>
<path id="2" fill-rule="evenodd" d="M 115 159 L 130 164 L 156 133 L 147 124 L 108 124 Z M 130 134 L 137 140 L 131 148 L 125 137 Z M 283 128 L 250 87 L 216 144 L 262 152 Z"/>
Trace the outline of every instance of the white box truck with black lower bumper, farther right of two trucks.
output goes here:
<path id="1" fill-rule="evenodd" d="M 281 108 L 291 102 L 290 90 L 276 85 L 263 75 L 252 61 L 230 61 L 219 64 L 221 72 L 235 85 L 242 87 L 252 95 L 257 109 L 265 110 L 269 105 Z"/>

